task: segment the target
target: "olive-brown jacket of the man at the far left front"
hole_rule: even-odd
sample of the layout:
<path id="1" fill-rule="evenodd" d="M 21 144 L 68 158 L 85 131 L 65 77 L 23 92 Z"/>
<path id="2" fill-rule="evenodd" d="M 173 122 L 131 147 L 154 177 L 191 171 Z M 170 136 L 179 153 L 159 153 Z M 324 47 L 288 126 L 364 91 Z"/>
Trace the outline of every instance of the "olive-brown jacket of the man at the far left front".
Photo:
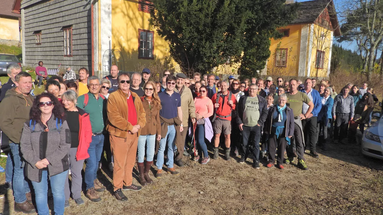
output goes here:
<path id="1" fill-rule="evenodd" d="M 0 128 L 8 136 L 9 142 L 20 143 L 24 122 L 29 120 L 33 96 L 24 96 L 16 88 L 7 91 L 0 103 Z"/>

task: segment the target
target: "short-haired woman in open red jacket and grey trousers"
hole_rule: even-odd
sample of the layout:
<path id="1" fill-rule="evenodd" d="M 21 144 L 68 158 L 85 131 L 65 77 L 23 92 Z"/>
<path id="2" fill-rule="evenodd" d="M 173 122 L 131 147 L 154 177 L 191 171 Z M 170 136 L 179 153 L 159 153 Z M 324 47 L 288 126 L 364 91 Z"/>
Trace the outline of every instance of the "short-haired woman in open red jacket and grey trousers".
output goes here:
<path id="1" fill-rule="evenodd" d="M 68 154 L 70 174 L 72 176 L 72 187 L 69 191 L 69 181 L 65 180 L 65 207 L 69 207 L 69 196 L 77 205 L 84 204 L 81 199 L 82 176 L 84 160 L 89 157 L 88 148 L 92 142 L 92 127 L 90 125 L 89 114 L 83 109 L 76 107 L 77 93 L 68 90 L 62 94 L 62 103 L 65 108 L 66 120 L 68 122 L 71 146 Z"/>

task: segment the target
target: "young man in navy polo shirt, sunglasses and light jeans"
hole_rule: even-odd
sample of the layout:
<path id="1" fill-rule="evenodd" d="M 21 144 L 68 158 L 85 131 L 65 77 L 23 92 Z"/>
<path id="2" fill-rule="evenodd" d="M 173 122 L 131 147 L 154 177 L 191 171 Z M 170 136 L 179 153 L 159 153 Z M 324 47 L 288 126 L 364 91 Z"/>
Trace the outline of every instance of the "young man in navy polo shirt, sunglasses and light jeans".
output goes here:
<path id="1" fill-rule="evenodd" d="M 175 134 L 183 131 L 181 96 L 174 91 L 176 78 L 173 75 L 166 77 L 166 90 L 159 93 L 162 109 L 160 110 L 161 122 L 161 141 L 157 153 L 157 173 L 155 178 L 162 177 L 162 166 L 164 165 L 164 152 L 166 144 L 168 145 L 166 166 L 169 173 L 179 175 L 173 167 L 173 157 L 175 150 Z"/>

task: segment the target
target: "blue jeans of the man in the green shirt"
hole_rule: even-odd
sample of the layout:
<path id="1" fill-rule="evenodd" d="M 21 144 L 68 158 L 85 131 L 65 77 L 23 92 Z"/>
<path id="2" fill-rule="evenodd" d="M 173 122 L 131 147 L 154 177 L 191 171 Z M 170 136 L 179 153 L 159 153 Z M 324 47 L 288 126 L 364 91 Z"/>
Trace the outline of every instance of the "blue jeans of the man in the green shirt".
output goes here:
<path id="1" fill-rule="evenodd" d="M 85 167 L 84 181 L 86 185 L 86 190 L 94 187 L 93 181 L 97 178 L 97 168 L 98 162 L 101 160 L 102 148 L 104 146 L 104 135 L 92 136 L 92 142 L 89 144 L 88 154 L 89 158 L 85 159 L 87 161 L 87 166 Z"/>

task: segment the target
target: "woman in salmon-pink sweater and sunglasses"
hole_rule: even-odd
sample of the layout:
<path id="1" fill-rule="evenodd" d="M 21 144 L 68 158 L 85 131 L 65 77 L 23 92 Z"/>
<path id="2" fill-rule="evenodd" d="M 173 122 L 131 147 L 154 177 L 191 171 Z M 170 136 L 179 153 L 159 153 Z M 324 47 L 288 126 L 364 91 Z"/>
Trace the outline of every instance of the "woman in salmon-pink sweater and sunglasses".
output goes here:
<path id="1" fill-rule="evenodd" d="M 205 120 L 209 120 L 209 117 L 213 116 L 213 102 L 207 97 L 208 92 L 206 86 L 200 87 L 200 96 L 194 99 L 195 103 L 195 116 L 197 118 L 197 126 L 195 129 L 195 138 L 198 143 L 198 150 L 203 152 L 203 159 L 201 164 L 207 164 L 210 161 L 208 155 L 208 147 L 205 143 Z M 194 158 L 200 160 L 200 156 L 197 154 Z"/>

